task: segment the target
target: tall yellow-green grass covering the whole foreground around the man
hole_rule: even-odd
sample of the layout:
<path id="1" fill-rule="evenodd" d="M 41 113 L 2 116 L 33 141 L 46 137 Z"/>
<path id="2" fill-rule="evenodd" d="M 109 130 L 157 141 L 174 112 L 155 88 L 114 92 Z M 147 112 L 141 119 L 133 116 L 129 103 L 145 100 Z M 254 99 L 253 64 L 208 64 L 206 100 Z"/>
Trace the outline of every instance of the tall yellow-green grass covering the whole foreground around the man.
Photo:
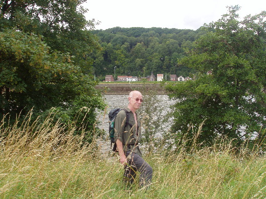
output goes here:
<path id="1" fill-rule="evenodd" d="M 96 140 L 82 144 L 75 125 L 31 122 L 29 114 L 12 126 L 0 125 L 0 198 L 265 198 L 266 158 L 245 145 L 221 139 L 189 153 L 165 150 L 146 154 L 153 168 L 148 190 L 122 182 L 116 154 L 102 153 Z M 20 122 L 19 122 L 20 121 Z M 87 132 L 84 132 L 87 133 Z M 195 133 L 198 135 L 201 129 Z M 159 138 L 158 138 L 159 139 Z M 158 141 L 158 140 L 157 140 Z M 179 153 L 176 153 L 179 151 Z"/>

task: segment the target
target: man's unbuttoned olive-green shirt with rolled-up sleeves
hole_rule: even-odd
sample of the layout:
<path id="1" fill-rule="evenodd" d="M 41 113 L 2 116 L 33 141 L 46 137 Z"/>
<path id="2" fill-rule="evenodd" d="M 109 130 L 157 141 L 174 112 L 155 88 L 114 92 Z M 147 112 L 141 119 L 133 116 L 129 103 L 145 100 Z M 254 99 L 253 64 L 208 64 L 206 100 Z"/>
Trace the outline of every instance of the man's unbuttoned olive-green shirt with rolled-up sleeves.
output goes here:
<path id="1" fill-rule="evenodd" d="M 138 143 L 140 143 L 141 140 L 141 123 L 138 120 L 138 115 L 136 113 L 137 122 L 138 122 L 138 134 L 137 134 L 135 118 L 133 113 L 128 108 L 125 108 L 125 110 L 127 110 L 127 112 L 129 113 L 128 123 L 132 125 L 132 128 L 130 128 L 129 125 L 125 127 L 126 113 L 124 110 L 121 110 L 117 114 L 115 119 L 115 141 L 119 139 L 123 143 L 124 153 L 130 151 L 138 154 L 139 156 L 142 156 L 140 148 L 138 146 Z"/>

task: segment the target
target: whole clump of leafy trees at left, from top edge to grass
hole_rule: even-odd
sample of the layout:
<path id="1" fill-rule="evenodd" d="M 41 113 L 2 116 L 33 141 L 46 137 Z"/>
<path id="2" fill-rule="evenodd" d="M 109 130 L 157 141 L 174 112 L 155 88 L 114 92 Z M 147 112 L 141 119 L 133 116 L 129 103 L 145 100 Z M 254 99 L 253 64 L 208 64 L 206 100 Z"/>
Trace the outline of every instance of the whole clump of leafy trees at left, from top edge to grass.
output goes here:
<path id="1" fill-rule="evenodd" d="M 91 57 L 99 44 L 81 7 L 85 0 L 0 2 L 0 112 L 36 115 L 54 108 L 62 122 L 81 111 L 94 129 L 95 109 L 104 106 L 94 88 Z M 78 121 L 78 119 L 76 118 Z"/>

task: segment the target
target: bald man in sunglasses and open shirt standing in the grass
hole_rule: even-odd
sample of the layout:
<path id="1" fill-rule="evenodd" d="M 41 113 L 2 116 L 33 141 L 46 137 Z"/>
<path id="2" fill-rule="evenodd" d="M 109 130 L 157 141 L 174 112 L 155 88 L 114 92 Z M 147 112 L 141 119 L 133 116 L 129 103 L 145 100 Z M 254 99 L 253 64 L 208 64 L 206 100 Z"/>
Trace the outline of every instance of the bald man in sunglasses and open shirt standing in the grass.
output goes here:
<path id="1" fill-rule="evenodd" d="M 120 156 L 120 163 L 124 165 L 124 181 L 133 183 L 136 172 L 140 172 L 140 186 L 146 187 L 150 184 L 152 178 L 152 168 L 144 161 L 139 147 L 141 140 L 141 124 L 138 120 L 136 111 L 143 102 L 142 94 L 135 90 L 131 91 L 128 96 L 128 106 L 121 110 L 115 120 L 115 140 L 117 150 Z M 125 125 L 126 112 L 129 115 L 128 123 Z M 131 126 L 131 127 L 130 127 Z"/>

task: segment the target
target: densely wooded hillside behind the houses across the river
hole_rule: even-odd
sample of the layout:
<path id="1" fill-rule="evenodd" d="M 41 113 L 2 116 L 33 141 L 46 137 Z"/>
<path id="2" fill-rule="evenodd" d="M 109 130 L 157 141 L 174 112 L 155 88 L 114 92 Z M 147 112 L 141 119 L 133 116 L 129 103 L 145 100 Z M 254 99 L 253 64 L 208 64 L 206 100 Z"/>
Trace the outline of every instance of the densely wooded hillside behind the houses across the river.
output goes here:
<path id="1" fill-rule="evenodd" d="M 146 77 L 153 72 L 187 77 L 190 68 L 179 65 L 202 29 L 120 28 L 92 31 L 101 45 L 95 53 L 94 72 L 99 80 L 106 74 Z"/>

